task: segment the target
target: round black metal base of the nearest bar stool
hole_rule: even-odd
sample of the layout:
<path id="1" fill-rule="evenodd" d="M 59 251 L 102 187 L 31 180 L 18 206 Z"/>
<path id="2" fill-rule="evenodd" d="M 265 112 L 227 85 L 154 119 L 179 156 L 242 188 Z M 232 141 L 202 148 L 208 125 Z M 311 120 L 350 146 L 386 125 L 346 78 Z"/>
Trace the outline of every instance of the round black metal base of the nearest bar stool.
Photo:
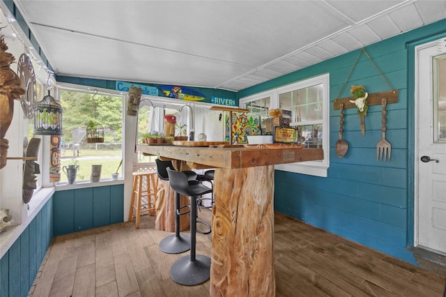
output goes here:
<path id="1" fill-rule="evenodd" d="M 194 261 L 190 256 L 181 257 L 172 264 L 170 268 L 172 280 L 185 286 L 194 286 L 209 280 L 210 258 L 197 254 Z"/>

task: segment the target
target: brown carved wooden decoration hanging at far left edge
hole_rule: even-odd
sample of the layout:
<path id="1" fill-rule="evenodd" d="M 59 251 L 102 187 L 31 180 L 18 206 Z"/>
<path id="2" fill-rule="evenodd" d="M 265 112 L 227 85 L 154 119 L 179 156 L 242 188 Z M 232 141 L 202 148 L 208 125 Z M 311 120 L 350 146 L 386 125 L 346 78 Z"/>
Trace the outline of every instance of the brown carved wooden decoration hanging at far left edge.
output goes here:
<path id="1" fill-rule="evenodd" d="M 8 45 L 0 36 L 0 169 L 6 166 L 9 141 L 5 135 L 13 121 L 14 99 L 20 100 L 20 96 L 25 93 L 20 77 L 10 68 L 15 58 L 7 50 Z"/>

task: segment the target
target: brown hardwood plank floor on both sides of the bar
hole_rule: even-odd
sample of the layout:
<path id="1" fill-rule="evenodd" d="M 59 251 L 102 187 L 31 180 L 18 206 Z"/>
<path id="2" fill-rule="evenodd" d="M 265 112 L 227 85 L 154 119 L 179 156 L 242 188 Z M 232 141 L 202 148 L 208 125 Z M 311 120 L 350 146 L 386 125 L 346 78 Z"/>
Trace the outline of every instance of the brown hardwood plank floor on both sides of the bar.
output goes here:
<path id="1" fill-rule="evenodd" d="M 212 212 L 199 211 L 210 222 Z M 155 218 L 56 236 L 29 296 L 209 296 L 209 281 L 176 284 L 164 254 L 168 232 Z M 197 254 L 210 257 L 211 235 L 197 234 Z M 364 245 L 275 213 L 276 296 L 443 297 L 446 275 L 433 273 Z M 232 297 L 232 296 L 231 296 Z"/>

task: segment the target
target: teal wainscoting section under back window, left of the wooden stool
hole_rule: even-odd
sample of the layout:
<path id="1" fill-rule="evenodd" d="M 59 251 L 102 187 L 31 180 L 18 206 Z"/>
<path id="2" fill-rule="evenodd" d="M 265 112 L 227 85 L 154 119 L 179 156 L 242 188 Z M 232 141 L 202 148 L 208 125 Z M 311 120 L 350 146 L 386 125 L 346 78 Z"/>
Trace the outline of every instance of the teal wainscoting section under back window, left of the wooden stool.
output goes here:
<path id="1" fill-rule="evenodd" d="M 124 185 L 54 193 L 54 236 L 123 222 Z"/>

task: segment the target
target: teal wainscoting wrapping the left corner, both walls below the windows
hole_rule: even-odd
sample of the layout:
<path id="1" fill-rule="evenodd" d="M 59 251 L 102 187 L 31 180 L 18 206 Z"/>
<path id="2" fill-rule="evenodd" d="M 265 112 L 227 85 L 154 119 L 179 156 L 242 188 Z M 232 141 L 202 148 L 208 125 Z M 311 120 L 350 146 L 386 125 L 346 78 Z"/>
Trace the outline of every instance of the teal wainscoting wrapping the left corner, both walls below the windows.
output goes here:
<path id="1" fill-rule="evenodd" d="M 27 296 L 53 236 L 123 222 L 124 185 L 55 192 L 0 259 L 0 297 Z"/>

